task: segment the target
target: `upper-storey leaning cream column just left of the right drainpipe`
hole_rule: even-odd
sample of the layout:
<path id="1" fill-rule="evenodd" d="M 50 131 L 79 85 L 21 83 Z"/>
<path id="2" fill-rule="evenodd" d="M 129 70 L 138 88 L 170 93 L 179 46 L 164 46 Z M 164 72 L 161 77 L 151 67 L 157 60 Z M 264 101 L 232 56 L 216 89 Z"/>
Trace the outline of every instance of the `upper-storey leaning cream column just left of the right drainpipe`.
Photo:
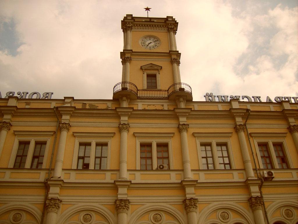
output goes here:
<path id="1" fill-rule="evenodd" d="M 254 178 L 254 172 L 252 170 L 252 162 L 250 161 L 248 148 L 247 148 L 246 140 L 244 136 L 245 125 L 236 125 L 235 130 L 238 134 L 246 178 Z"/>

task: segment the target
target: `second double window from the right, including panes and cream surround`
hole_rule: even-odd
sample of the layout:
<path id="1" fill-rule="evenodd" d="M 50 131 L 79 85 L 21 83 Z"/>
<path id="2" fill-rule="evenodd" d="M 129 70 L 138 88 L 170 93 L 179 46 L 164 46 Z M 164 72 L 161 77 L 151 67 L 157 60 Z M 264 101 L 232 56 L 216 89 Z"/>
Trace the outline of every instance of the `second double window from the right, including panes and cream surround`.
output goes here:
<path id="1" fill-rule="evenodd" d="M 193 133 L 197 141 L 199 168 L 233 169 L 230 137 L 232 133 Z"/>

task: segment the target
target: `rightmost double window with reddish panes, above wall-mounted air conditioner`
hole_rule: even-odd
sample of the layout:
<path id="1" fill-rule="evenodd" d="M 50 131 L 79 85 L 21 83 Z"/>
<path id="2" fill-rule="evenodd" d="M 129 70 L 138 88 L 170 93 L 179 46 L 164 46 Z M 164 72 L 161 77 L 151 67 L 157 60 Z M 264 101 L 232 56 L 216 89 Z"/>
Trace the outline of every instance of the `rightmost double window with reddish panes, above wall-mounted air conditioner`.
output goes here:
<path id="1" fill-rule="evenodd" d="M 287 133 L 250 133 L 257 149 L 260 168 L 285 169 L 292 168 L 285 142 Z"/>

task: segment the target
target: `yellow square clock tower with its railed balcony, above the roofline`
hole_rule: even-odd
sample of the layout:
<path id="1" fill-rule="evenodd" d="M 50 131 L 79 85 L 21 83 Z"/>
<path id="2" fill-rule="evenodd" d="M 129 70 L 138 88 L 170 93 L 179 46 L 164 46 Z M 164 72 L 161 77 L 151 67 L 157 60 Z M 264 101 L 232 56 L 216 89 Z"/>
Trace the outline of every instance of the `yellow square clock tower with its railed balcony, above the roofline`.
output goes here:
<path id="1" fill-rule="evenodd" d="M 121 28 L 122 82 L 114 86 L 113 99 L 122 102 L 122 97 L 169 100 L 178 97 L 184 102 L 191 101 L 191 88 L 180 79 L 180 53 L 175 37 L 178 22 L 172 16 L 148 18 L 128 14 L 121 21 Z"/>

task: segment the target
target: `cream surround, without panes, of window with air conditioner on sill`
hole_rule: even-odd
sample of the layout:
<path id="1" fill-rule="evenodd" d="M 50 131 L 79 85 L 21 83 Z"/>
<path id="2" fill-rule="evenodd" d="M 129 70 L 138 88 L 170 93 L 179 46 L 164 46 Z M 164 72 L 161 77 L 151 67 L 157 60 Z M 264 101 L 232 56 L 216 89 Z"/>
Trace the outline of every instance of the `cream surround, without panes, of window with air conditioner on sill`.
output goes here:
<path id="1" fill-rule="evenodd" d="M 155 170 L 159 164 L 157 164 L 156 145 L 166 143 L 169 149 L 169 167 L 173 169 L 173 151 L 172 151 L 172 137 L 174 133 L 140 133 L 134 132 L 136 136 L 136 169 L 140 170 L 140 144 L 151 143 L 152 144 L 152 169 Z M 144 170 L 146 171 L 146 170 Z"/>

